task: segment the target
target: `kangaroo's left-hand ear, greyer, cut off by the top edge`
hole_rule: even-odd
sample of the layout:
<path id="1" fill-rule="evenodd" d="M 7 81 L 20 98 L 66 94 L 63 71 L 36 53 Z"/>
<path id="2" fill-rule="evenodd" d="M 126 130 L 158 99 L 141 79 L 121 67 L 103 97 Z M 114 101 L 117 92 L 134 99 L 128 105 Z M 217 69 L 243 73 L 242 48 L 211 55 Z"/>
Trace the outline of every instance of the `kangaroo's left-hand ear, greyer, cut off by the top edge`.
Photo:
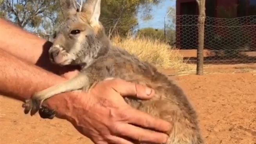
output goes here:
<path id="1" fill-rule="evenodd" d="M 70 15 L 77 13 L 76 1 L 75 0 L 59 0 L 61 6 L 61 12 L 64 18 L 68 18 Z"/>

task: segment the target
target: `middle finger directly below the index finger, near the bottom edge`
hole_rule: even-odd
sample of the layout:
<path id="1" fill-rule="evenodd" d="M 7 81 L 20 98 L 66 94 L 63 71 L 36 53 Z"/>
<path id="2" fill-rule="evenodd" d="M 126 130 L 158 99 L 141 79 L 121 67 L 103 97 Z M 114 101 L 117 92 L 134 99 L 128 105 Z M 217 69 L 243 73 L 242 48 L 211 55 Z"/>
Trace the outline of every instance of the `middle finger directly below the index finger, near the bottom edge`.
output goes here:
<path id="1" fill-rule="evenodd" d="M 142 129 L 132 124 L 119 124 L 116 130 L 117 135 L 130 137 L 139 142 L 165 143 L 168 139 L 166 134 Z"/>

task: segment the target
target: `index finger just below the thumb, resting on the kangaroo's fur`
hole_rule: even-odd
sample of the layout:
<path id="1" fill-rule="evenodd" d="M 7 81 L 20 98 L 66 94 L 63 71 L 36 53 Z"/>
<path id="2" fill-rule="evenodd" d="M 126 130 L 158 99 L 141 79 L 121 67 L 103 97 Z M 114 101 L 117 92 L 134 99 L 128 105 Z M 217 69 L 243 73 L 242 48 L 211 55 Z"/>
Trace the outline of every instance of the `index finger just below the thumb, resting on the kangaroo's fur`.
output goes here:
<path id="1" fill-rule="evenodd" d="M 166 132 L 171 130 L 171 127 L 172 127 L 171 124 L 167 121 L 154 118 L 148 113 L 144 113 L 140 110 L 136 110 L 133 108 L 130 108 L 129 110 L 127 110 L 125 115 L 129 123 L 139 125 L 144 128 Z"/>

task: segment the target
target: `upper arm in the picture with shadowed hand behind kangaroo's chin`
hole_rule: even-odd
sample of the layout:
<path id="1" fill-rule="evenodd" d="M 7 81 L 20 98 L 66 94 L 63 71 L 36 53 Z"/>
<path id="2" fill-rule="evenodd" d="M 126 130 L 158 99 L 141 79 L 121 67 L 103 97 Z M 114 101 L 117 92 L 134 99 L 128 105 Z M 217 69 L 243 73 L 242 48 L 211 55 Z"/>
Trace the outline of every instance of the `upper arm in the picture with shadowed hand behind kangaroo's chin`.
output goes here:
<path id="1" fill-rule="evenodd" d="M 67 72 L 67 67 L 59 67 L 50 62 L 48 50 L 51 42 L 16 27 L 13 23 L 0 19 L 0 49 L 46 70 L 59 74 Z"/>

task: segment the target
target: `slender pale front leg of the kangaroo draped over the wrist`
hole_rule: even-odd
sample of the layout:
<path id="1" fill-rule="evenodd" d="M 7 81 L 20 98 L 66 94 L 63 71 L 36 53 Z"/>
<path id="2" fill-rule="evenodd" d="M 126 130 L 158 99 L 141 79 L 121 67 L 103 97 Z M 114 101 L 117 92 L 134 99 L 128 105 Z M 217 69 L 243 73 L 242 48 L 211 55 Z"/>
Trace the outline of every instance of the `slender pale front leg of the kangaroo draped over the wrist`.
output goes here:
<path id="1" fill-rule="evenodd" d="M 45 99 L 63 92 L 70 92 L 89 87 L 90 85 L 90 79 L 87 74 L 80 73 L 78 76 L 69 79 L 68 81 L 36 92 L 31 99 L 26 100 L 25 104 L 23 104 L 23 107 L 25 108 L 24 112 L 27 114 L 31 110 L 31 115 L 34 115 L 41 108 L 41 104 Z"/>

